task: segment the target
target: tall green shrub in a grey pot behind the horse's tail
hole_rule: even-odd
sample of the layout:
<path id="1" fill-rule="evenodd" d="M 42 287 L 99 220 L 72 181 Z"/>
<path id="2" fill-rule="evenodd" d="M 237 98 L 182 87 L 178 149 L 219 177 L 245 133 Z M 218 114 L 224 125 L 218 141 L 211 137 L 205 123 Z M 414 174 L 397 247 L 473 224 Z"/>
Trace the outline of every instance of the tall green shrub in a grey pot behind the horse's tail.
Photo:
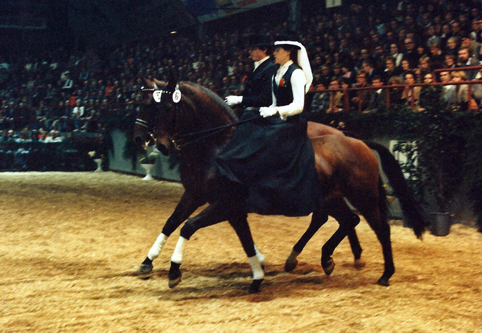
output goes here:
<path id="1" fill-rule="evenodd" d="M 462 183 L 463 114 L 441 99 L 441 88 L 423 90 L 419 109 L 406 108 L 399 124 L 407 143 L 399 150 L 411 158 L 404 165 L 408 181 L 423 203 L 432 210 L 432 233 L 446 236 L 450 230 L 450 201 Z"/>

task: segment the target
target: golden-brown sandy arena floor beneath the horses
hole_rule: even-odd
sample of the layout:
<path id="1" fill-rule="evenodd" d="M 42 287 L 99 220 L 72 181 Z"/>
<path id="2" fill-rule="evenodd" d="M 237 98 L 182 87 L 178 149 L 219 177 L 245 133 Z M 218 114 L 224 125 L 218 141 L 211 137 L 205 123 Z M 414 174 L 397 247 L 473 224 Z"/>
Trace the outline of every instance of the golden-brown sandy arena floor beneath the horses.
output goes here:
<path id="1" fill-rule="evenodd" d="M 283 266 L 309 218 L 249 217 L 266 255 L 262 292 L 227 222 L 187 244 L 181 284 L 169 289 L 179 231 L 149 279 L 134 275 L 182 194 L 182 186 L 113 172 L 0 173 L 0 332 L 482 332 L 482 234 L 449 236 L 392 226 L 397 271 L 388 288 L 381 247 L 357 227 L 367 265 L 344 240 L 335 271 L 319 264 L 330 220 L 293 273 Z"/>

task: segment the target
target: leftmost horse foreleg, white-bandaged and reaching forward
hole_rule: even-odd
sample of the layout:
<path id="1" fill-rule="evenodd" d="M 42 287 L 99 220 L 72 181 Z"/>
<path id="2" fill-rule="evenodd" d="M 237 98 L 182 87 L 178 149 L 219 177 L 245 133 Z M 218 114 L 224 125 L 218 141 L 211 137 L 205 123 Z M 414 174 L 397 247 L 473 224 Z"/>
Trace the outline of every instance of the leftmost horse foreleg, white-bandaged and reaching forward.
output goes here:
<path id="1" fill-rule="evenodd" d="M 154 268 L 152 262 L 159 256 L 159 253 L 163 249 L 167 238 L 169 238 L 169 236 L 171 236 L 171 233 L 178 229 L 181 223 L 184 222 L 187 218 L 189 218 L 189 216 L 191 216 L 191 214 L 193 214 L 193 212 L 196 211 L 198 207 L 204 204 L 205 203 L 202 202 L 202 200 L 199 200 L 195 196 L 189 194 L 189 192 L 187 191 L 182 194 L 182 197 L 178 205 L 176 206 L 176 209 L 174 209 L 174 213 L 167 219 L 167 222 L 163 227 L 162 233 L 160 233 L 160 235 L 156 239 L 156 242 L 154 242 L 154 244 L 152 245 L 143 263 L 140 264 L 140 267 L 137 270 L 138 275 L 147 274 L 152 271 L 152 269 Z"/>

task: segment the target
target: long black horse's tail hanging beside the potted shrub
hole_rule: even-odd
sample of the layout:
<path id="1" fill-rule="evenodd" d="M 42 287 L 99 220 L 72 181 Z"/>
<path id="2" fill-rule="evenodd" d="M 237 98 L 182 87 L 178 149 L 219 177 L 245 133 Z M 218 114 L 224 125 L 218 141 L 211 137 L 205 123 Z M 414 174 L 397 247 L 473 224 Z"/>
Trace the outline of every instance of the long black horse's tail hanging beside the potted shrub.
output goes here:
<path id="1" fill-rule="evenodd" d="M 406 223 L 413 229 L 417 238 L 421 238 L 423 231 L 426 230 L 430 223 L 423 215 L 421 206 L 415 200 L 412 190 L 408 187 L 399 163 L 385 146 L 373 141 L 364 141 L 364 143 L 370 149 L 378 152 L 381 168 L 384 170 L 390 186 L 399 200 Z"/>

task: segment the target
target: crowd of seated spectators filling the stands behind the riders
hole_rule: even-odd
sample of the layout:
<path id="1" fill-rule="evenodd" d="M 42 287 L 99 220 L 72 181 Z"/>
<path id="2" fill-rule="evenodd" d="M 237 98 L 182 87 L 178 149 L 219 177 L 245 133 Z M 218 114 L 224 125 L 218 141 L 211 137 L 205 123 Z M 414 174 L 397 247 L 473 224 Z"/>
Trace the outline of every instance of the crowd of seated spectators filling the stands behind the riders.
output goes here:
<path id="1" fill-rule="evenodd" d="M 308 50 L 314 74 L 311 112 L 344 110 L 343 93 L 324 89 L 381 87 L 387 84 L 480 80 L 482 71 L 434 73 L 435 69 L 476 66 L 482 60 L 480 0 L 402 0 L 379 6 L 310 8 L 294 32 Z M 222 95 L 235 95 L 252 71 L 246 52 L 249 35 L 293 34 L 286 21 L 258 26 L 220 26 L 203 40 L 164 36 L 155 42 L 134 41 L 106 52 L 37 50 L 0 58 L 0 130 L 6 139 L 44 139 L 45 133 L 96 133 L 101 113 L 116 106 L 136 110 L 141 77 L 167 80 L 175 69 L 179 80 L 197 82 Z M 482 89 L 472 85 L 480 108 Z M 392 102 L 415 104 L 420 87 L 393 89 Z M 350 91 L 350 110 L 375 109 L 386 100 L 384 89 Z M 449 103 L 468 105 L 463 85 L 444 87 Z M 119 108 L 121 106 L 121 108 Z M 27 132 L 27 134 L 25 134 Z M 6 134 L 5 134 L 6 133 Z M 22 138 L 23 136 L 23 138 Z M 45 136 L 46 137 L 46 136 Z M 0 139 L 3 140 L 3 139 Z"/>

